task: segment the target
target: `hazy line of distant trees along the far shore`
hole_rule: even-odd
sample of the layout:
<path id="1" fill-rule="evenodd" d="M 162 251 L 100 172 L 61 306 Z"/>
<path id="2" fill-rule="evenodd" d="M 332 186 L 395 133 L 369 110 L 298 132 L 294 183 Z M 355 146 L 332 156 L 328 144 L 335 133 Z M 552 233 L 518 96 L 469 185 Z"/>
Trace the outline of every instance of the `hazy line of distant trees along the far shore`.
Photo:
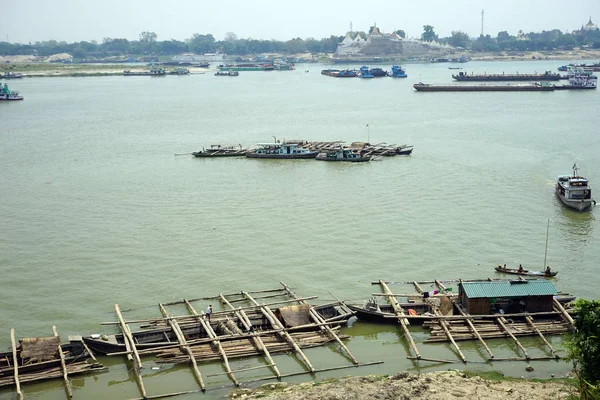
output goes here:
<path id="1" fill-rule="evenodd" d="M 397 30 L 400 36 L 404 31 Z M 365 37 L 364 32 L 357 32 Z M 147 55 L 171 56 L 186 52 L 203 54 L 222 52 L 234 55 L 250 55 L 260 53 L 333 53 L 343 36 L 331 35 L 323 39 L 295 38 L 287 41 L 240 39 L 234 33 L 228 32 L 224 40 L 217 41 L 213 35 L 195 33 L 185 41 L 157 40 L 154 32 L 142 32 L 139 40 L 129 41 L 120 38 L 104 38 L 102 43 L 91 42 L 57 42 L 48 40 L 34 44 L 17 44 L 0 42 L 0 55 L 37 55 L 49 56 L 57 53 L 69 53 L 75 59 L 94 59 L 109 56 Z M 542 31 L 539 33 L 523 33 L 512 36 L 506 31 L 499 32 L 496 37 L 490 35 L 470 38 L 466 33 L 453 31 L 452 35 L 438 38 L 431 25 L 424 26 L 421 38 L 425 41 L 436 40 L 451 46 L 471 50 L 474 52 L 498 51 L 543 51 L 543 50 L 571 50 L 575 47 L 600 48 L 600 30 L 573 31 L 563 33 L 558 29 Z"/>

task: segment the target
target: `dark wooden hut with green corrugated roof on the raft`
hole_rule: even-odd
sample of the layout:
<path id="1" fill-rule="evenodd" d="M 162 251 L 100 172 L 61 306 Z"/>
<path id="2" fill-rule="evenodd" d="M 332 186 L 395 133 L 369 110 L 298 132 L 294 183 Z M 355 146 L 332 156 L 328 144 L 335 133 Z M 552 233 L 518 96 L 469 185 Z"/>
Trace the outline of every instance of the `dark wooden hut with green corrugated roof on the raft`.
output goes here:
<path id="1" fill-rule="evenodd" d="M 460 302 L 471 315 L 552 311 L 554 284 L 547 280 L 461 282 Z"/>

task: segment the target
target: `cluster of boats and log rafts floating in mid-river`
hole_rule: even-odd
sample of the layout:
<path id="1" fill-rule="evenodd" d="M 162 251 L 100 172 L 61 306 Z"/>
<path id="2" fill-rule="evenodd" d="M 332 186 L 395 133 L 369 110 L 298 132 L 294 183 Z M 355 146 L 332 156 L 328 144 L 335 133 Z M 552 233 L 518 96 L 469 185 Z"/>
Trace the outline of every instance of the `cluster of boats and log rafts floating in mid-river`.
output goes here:
<path id="1" fill-rule="evenodd" d="M 345 147 L 341 142 L 311 144 L 304 141 L 275 140 L 273 143 L 259 143 L 256 149 L 244 149 L 241 145 L 212 145 L 191 153 L 194 157 L 247 157 L 280 160 L 315 159 L 319 161 L 367 162 L 378 156 L 409 155 L 413 146 L 371 145 L 355 142 Z"/>

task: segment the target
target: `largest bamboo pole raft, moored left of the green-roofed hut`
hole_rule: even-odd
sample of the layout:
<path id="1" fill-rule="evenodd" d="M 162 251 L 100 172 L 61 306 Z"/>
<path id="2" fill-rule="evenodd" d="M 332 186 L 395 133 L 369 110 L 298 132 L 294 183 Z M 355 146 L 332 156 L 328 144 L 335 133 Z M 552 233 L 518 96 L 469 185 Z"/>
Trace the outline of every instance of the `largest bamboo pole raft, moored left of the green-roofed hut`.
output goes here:
<path id="1" fill-rule="evenodd" d="M 157 363 L 189 364 L 199 386 L 197 391 L 206 390 L 206 377 L 224 374 L 228 376 L 233 385 L 239 386 L 241 382 L 236 377 L 236 373 L 260 368 L 269 369 L 271 375 L 253 379 L 251 382 L 279 380 L 288 376 L 382 363 L 382 361 L 359 362 L 343 343 L 349 336 L 340 334 L 340 326 L 353 315 L 353 312 L 348 310 L 343 302 L 338 300 L 335 303 L 312 306 L 307 300 L 315 298 L 314 296 L 300 297 L 285 283 L 280 282 L 280 284 L 281 288 L 276 289 L 240 291 L 232 294 L 220 293 L 212 297 L 159 303 L 162 318 L 128 321 L 123 317 L 119 305 L 116 304 L 117 322 L 103 322 L 102 324 L 119 326 L 122 333 L 118 339 L 122 341 L 123 345 L 119 347 L 119 351 L 107 353 L 107 355 L 126 356 L 133 363 L 133 371 L 142 399 L 190 393 L 187 391 L 148 395 L 142 376 L 144 368 L 142 361 L 146 356 L 154 356 Z M 198 301 L 220 303 L 221 310 L 215 310 L 211 314 L 199 313 L 192 304 Z M 243 303 L 243 305 L 236 307 L 233 305 L 234 303 Z M 290 303 L 292 304 L 290 305 Z M 181 305 L 187 308 L 188 315 L 175 316 L 167 310 L 169 306 Z M 277 307 L 272 308 L 273 306 Z M 132 331 L 130 327 L 132 324 L 140 325 L 140 330 Z M 195 330 L 190 331 L 192 328 Z M 144 344 L 139 340 L 139 338 L 143 338 L 140 335 L 145 333 L 154 335 L 158 332 L 164 335 L 166 343 L 153 342 L 149 346 L 140 348 Z M 185 332 L 198 332 L 198 334 L 192 337 Z M 156 338 L 156 336 L 152 337 Z M 83 339 L 90 346 L 97 342 L 91 340 L 90 337 Z M 118 342 L 116 339 L 117 336 L 114 336 L 109 341 L 114 345 Z M 351 363 L 338 367 L 315 368 L 304 350 L 334 342 L 339 344 L 339 347 L 336 346 L 336 348 Z M 295 355 L 301 362 L 303 370 L 282 374 L 272 357 L 272 354 L 281 353 Z M 229 362 L 231 359 L 247 357 L 261 357 L 264 358 L 265 363 L 261 366 L 238 370 L 231 368 Z M 222 362 L 225 372 L 203 376 L 199 364 L 215 361 Z"/>

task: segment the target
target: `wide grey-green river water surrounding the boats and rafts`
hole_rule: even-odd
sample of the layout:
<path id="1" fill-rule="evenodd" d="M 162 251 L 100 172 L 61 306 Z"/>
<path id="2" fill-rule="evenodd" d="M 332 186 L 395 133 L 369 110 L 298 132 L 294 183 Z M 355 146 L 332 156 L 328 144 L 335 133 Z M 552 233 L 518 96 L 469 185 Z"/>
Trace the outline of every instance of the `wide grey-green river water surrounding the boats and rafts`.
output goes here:
<path id="1" fill-rule="evenodd" d="M 460 67 L 526 73 L 561 64 Z M 378 279 L 506 277 L 493 271 L 498 263 L 541 269 L 548 221 L 547 264 L 559 271 L 557 289 L 596 299 L 598 211 L 567 209 L 554 183 L 577 163 L 592 186 L 600 185 L 600 94 L 412 89 L 420 81 L 449 83 L 457 71 L 448 66 L 458 65 L 406 64 L 407 79 L 334 79 L 320 74 L 327 66 L 307 64 L 236 78 L 211 71 L 9 81 L 25 100 L 0 104 L 0 348 L 10 347 L 10 328 L 34 337 L 51 335 L 56 325 L 63 341 L 117 332 L 100 325 L 115 320 L 115 303 L 134 310 L 126 318 L 155 317 L 158 302 L 278 288 L 280 281 L 301 296 L 319 296 L 313 304 L 333 296 L 362 302 L 380 291 L 371 285 Z M 218 143 L 252 147 L 273 136 L 412 144 L 414 152 L 356 165 L 174 155 Z M 426 331 L 412 330 L 424 357 L 458 360 L 449 345 L 419 343 Z M 475 342 L 459 343 L 466 366 L 416 364 L 406 359 L 409 346 L 397 326 L 353 320 L 343 332 L 361 362 L 384 363 L 312 379 L 447 368 L 538 377 L 569 370 L 562 361 L 533 362 L 533 373 L 523 362 L 490 364 Z M 523 342 L 532 355 L 544 354 L 539 339 Z M 559 339 L 552 343 L 560 348 Z M 508 340 L 490 344 L 498 357 L 520 356 Z M 334 345 L 307 355 L 316 368 L 349 363 Z M 100 361 L 109 372 L 74 377 L 75 398 L 139 397 L 131 364 Z M 233 361 L 232 368 L 259 362 Z M 284 374 L 302 371 L 290 355 L 276 362 Z M 202 397 L 222 398 L 231 389 L 226 375 L 208 377 L 223 372 L 220 363 L 200 369 L 208 386 Z M 144 359 L 143 374 L 149 395 L 198 389 L 185 365 Z M 25 386 L 24 393 L 65 396 L 61 380 Z M 14 390 L 0 391 L 0 399 L 12 398 Z"/>

